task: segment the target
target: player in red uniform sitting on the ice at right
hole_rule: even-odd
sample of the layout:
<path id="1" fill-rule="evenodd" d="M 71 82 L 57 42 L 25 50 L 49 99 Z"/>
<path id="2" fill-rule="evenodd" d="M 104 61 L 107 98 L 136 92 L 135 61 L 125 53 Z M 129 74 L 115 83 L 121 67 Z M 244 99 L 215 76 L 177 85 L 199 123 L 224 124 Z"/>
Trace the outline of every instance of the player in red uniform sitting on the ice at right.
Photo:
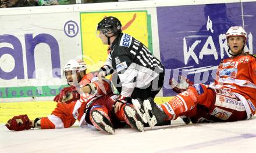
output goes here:
<path id="1" fill-rule="evenodd" d="M 247 34 L 242 27 L 230 27 L 226 39 L 231 57 L 219 64 L 214 83 L 187 84 L 187 90 L 162 105 L 152 99 L 137 100 L 138 114 L 151 127 L 179 116 L 187 116 L 193 123 L 250 119 L 256 105 L 256 56 L 244 52 Z"/>

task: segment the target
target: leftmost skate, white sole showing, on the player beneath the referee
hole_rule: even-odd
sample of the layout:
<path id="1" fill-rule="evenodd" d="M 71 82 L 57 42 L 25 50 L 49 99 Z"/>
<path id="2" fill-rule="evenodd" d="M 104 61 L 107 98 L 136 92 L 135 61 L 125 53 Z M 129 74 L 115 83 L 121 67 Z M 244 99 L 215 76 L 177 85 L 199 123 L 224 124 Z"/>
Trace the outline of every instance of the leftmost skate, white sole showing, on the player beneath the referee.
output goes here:
<path id="1" fill-rule="evenodd" d="M 95 128 L 102 129 L 105 132 L 108 132 L 109 134 L 115 133 L 115 129 L 113 128 L 113 125 L 109 118 L 106 118 L 106 116 L 104 116 L 100 111 L 93 110 L 93 112 L 91 112 L 91 115 L 93 117 L 93 122 L 96 124 L 93 125 L 98 126 Z"/>

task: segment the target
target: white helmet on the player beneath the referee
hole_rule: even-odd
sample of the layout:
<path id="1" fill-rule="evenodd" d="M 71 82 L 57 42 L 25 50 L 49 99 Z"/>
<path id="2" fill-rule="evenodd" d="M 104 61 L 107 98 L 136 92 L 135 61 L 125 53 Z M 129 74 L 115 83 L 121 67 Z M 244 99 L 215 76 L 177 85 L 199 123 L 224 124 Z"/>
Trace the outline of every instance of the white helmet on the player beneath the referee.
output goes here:
<path id="1" fill-rule="evenodd" d="M 81 72 L 86 70 L 86 63 L 84 63 L 83 60 L 81 59 L 76 59 L 76 60 L 69 60 L 66 65 L 63 68 L 63 71 L 77 71 L 77 72 Z"/>

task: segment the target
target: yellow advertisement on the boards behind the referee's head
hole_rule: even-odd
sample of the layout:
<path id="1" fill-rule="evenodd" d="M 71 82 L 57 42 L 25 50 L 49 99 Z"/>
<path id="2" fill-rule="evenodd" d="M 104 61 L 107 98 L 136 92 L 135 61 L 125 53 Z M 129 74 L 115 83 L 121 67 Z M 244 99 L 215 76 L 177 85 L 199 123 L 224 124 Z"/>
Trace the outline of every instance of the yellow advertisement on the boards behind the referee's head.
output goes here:
<path id="1" fill-rule="evenodd" d="M 108 56 L 109 46 L 102 44 L 96 35 L 97 24 L 108 16 L 117 17 L 122 23 L 122 32 L 148 46 L 147 11 L 80 13 L 83 59 L 89 72 L 99 70 Z"/>

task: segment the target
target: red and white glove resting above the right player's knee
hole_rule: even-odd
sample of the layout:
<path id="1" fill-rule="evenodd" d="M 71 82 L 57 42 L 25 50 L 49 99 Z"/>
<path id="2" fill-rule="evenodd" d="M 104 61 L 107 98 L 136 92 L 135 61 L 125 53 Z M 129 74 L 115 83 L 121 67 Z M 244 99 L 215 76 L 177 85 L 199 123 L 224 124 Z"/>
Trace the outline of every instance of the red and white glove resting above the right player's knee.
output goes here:
<path id="1" fill-rule="evenodd" d="M 182 93 L 186 91 L 190 86 L 194 85 L 194 82 L 191 82 L 186 77 L 182 77 L 182 75 L 179 75 L 178 81 L 176 81 L 175 79 L 170 79 L 169 85 L 172 88 L 173 92 Z"/>

